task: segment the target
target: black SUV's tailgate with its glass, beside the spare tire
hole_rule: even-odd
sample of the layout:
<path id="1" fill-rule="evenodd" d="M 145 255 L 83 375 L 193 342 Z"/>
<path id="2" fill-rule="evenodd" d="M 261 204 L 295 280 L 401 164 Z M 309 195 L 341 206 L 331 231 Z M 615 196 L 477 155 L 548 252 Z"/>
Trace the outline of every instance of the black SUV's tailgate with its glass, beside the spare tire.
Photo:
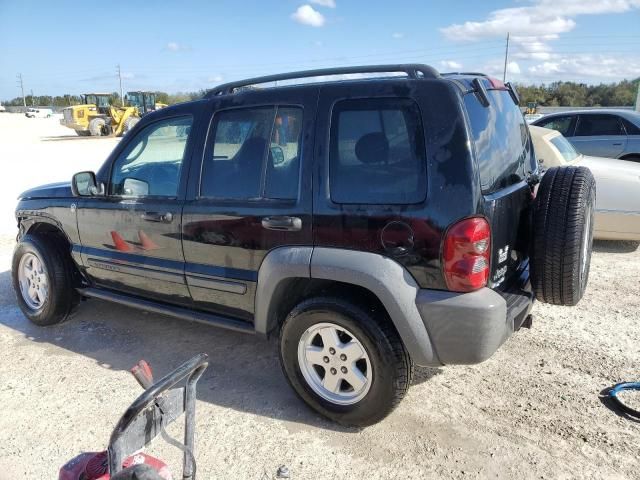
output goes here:
<path id="1" fill-rule="evenodd" d="M 537 170 L 529 129 L 509 92 L 487 92 L 489 106 L 468 93 L 464 103 L 474 138 L 485 215 L 491 225 L 489 287 L 507 287 L 528 258 L 531 188 Z"/>

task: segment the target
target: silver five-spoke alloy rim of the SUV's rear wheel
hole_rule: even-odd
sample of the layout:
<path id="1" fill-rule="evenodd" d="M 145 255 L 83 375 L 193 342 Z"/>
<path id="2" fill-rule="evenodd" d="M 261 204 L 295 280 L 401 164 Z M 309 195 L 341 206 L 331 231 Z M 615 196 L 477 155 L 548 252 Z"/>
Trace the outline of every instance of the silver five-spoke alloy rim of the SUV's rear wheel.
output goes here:
<path id="1" fill-rule="evenodd" d="M 353 405 L 371 388 L 373 370 L 366 349 L 353 333 L 334 323 L 317 323 L 302 334 L 298 364 L 311 389 L 337 405 Z"/>

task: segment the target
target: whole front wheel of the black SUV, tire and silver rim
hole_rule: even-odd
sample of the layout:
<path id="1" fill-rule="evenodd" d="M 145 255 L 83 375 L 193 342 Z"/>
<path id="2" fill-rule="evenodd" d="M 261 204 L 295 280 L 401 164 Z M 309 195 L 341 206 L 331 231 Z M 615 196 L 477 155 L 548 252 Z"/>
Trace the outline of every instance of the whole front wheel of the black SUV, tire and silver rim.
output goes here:
<path id="1" fill-rule="evenodd" d="M 70 256 L 53 239 L 25 235 L 13 252 L 13 288 L 22 313 L 36 325 L 65 320 L 77 306 Z"/>

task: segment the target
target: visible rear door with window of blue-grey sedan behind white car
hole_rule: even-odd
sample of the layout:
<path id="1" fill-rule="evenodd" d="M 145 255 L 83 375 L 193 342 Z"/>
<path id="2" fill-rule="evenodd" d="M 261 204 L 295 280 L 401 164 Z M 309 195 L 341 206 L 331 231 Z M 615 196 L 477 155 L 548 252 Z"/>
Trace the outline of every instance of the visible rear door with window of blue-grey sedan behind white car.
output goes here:
<path id="1" fill-rule="evenodd" d="M 626 148 L 627 133 L 617 115 L 581 114 L 571 143 L 584 155 L 617 158 Z"/>

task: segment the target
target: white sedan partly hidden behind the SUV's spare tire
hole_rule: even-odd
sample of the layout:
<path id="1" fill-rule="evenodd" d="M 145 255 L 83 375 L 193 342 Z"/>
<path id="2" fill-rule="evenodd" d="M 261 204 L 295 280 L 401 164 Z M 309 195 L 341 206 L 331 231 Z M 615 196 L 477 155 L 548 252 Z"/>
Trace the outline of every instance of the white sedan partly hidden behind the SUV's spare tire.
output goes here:
<path id="1" fill-rule="evenodd" d="M 556 130 L 529 126 L 542 168 L 580 165 L 596 179 L 594 238 L 640 241 L 640 163 L 587 157 Z"/>

